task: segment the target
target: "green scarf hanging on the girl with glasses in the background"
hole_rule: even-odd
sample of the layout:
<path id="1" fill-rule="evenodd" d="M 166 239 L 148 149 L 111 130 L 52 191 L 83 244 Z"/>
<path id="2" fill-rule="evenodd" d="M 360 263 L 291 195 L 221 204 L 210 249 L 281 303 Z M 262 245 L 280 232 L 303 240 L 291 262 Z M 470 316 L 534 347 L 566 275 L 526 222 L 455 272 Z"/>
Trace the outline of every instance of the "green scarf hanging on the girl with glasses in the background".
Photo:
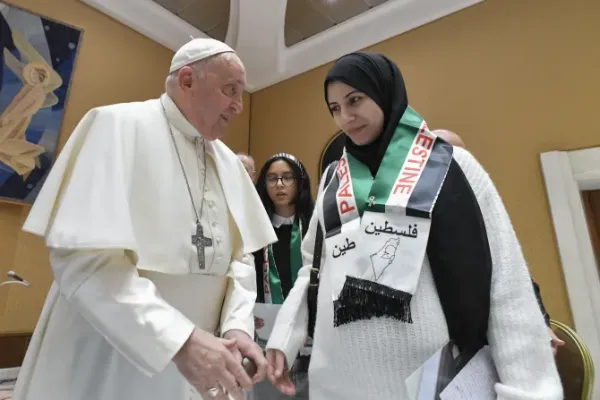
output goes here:
<path id="1" fill-rule="evenodd" d="M 294 218 L 292 225 L 292 235 L 290 238 L 290 268 L 292 273 L 292 283 L 296 282 L 298 271 L 302 268 L 302 222 L 300 218 Z M 265 303 L 283 304 L 283 289 L 279 272 L 273 257 L 273 245 L 268 245 L 263 249 L 263 291 L 265 294 Z"/>

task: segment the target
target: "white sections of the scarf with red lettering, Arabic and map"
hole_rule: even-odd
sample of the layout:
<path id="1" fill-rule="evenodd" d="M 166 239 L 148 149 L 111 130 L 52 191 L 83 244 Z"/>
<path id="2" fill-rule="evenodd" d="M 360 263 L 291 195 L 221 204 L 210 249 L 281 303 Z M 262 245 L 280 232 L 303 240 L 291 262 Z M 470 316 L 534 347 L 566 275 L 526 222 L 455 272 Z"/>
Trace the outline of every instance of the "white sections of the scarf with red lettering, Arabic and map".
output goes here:
<path id="1" fill-rule="evenodd" d="M 431 219 L 406 215 L 406 207 L 435 139 L 423 123 L 398 172 L 396 184 L 385 203 L 385 213 L 368 211 L 369 205 L 362 218 L 358 215 L 348 155 L 344 151 L 336 169 L 341 232 L 325 239 L 333 300 L 339 297 L 347 277 L 415 293 Z"/>

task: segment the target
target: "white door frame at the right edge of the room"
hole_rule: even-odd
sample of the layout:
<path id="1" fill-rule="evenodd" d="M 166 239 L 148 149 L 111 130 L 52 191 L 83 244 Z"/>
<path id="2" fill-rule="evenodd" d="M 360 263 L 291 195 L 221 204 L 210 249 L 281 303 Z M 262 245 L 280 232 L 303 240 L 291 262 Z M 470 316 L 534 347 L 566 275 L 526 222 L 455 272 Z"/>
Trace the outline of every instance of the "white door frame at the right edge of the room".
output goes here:
<path id="1" fill-rule="evenodd" d="M 595 390 L 600 397 L 600 279 L 581 199 L 600 189 L 600 147 L 542 153 L 550 213 L 565 276 L 575 329 L 592 353 Z M 547 295 L 552 295 L 551 293 Z"/>

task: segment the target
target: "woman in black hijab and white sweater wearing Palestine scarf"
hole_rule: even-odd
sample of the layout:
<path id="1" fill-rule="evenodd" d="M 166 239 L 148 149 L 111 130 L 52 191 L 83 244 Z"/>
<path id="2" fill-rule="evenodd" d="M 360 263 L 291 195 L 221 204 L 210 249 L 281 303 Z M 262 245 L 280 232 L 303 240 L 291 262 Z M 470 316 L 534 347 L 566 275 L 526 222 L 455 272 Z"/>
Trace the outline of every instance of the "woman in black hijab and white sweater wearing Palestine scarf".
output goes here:
<path id="1" fill-rule="evenodd" d="M 498 399 L 562 399 L 521 248 L 485 170 L 427 129 L 383 55 L 339 59 L 325 100 L 346 146 L 320 184 L 305 266 L 267 344 L 274 385 L 294 391 L 286 365 L 307 336 L 320 267 L 312 400 L 409 399 L 406 379 L 449 341 L 457 369 L 489 344 Z"/>

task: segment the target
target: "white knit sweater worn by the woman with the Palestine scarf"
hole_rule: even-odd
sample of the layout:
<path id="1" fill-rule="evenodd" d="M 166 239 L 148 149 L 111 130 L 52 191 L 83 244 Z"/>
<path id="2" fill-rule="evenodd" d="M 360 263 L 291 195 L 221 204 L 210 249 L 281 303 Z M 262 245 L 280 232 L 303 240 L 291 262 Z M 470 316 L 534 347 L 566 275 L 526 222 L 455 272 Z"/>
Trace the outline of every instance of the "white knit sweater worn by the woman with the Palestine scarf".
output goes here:
<path id="1" fill-rule="evenodd" d="M 508 214 L 490 177 L 475 158 L 459 148 L 454 149 L 454 158 L 477 196 L 490 242 L 493 273 L 488 340 L 501 379 L 496 385 L 498 399 L 562 399 L 547 328 Z M 322 220 L 321 209 L 314 213 L 302 243 L 305 266 L 278 314 L 267 344 L 267 348 L 282 350 L 288 365 L 292 365 L 306 339 L 306 294 L 317 218 Z M 327 264 L 321 268 L 309 370 L 311 400 L 408 400 L 405 380 L 449 339 L 428 261 L 424 262 L 412 299 L 412 324 L 374 318 L 334 328 L 327 268 Z"/>

